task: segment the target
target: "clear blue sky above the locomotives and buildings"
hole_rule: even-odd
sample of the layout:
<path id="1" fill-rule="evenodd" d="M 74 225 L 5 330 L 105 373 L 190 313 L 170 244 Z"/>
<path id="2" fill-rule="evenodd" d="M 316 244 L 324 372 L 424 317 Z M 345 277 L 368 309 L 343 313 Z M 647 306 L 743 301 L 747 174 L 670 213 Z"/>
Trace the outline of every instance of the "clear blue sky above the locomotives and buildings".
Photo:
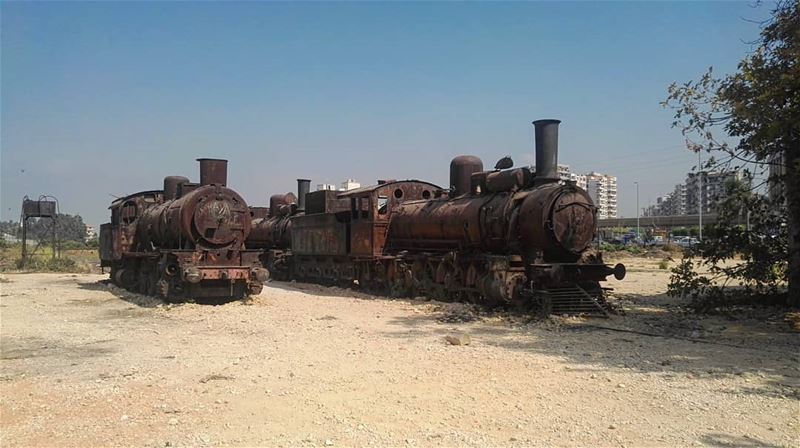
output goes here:
<path id="1" fill-rule="evenodd" d="M 618 176 L 621 213 L 694 156 L 659 106 L 729 72 L 769 5 L 749 3 L 9 3 L 2 15 L 2 218 L 23 195 L 105 222 L 110 195 L 230 159 L 251 205 L 313 184 L 447 184 L 474 154 Z"/>

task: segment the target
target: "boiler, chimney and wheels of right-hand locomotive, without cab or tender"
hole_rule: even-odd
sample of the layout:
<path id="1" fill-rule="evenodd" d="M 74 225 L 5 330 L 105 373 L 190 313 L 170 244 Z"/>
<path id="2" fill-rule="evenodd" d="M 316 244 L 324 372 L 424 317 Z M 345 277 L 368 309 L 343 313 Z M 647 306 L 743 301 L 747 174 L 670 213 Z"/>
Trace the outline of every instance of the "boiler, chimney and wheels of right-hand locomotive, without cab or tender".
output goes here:
<path id="1" fill-rule="evenodd" d="M 437 295 L 533 301 L 551 311 L 607 309 L 600 281 L 622 279 L 625 267 L 605 265 L 591 248 L 596 207 L 558 176 L 559 123 L 533 122 L 535 170 L 483 171 L 479 159 L 456 157 L 447 196 L 393 210 L 388 250 L 431 254 L 406 256 L 414 260 L 409 277 Z"/>

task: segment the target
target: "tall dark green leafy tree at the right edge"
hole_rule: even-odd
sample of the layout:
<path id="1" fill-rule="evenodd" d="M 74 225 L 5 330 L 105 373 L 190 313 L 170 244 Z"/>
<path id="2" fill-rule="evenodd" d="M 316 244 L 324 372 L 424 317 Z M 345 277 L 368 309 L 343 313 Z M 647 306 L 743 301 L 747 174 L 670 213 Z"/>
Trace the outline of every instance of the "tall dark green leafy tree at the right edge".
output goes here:
<path id="1" fill-rule="evenodd" d="M 743 253 L 740 271 L 718 273 L 732 275 L 748 291 L 759 294 L 775 292 L 771 285 L 785 280 L 788 297 L 796 306 L 800 305 L 799 61 L 800 3 L 781 1 L 762 24 L 755 49 L 739 63 L 736 73 L 715 78 L 709 69 L 697 81 L 670 86 L 664 102 L 675 110 L 673 126 L 686 136 L 687 146 L 714 156 L 705 168 L 755 167 L 765 172 L 772 168 L 770 181 L 783 186 L 777 196 L 744 194 L 760 185 L 746 192 L 734 188 L 729 191 L 731 201 L 721 207 L 723 214 L 740 212 L 736 207 L 749 209 L 751 229 L 742 231 L 721 219 L 699 254 L 716 264 Z M 717 138 L 719 130 L 735 143 Z M 686 280 L 682 285 L 693 286 L 689 289 L 695 293 L 720 292 L 713 287 L 713 274 L 697 275 L 694 266 L 686 264 L 677 269 L 676 275 Z"/>

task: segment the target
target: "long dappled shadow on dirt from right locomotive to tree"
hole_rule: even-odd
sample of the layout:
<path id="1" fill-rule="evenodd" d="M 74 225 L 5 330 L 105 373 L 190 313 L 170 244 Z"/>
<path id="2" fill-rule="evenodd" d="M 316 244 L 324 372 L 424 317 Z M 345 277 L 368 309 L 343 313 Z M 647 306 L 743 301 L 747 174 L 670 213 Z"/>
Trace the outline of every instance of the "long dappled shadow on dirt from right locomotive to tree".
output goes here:
<path id="1" fill-rule="evenodd" d="M 625 315 L 610 319 L 530 316 L 495 312 L 459 322 L 463 305 L 398 318 L 387 335 L 468 333 L 476 345 L 570 359 L 570 370 L 625 369 L 667 378 L 758 377 L 731 393 L 800 400 L 800 334 L 773 320 L 686 314 L 664 304 L 663 294 L 624 304 Z M 458 304 L 455 304 L 458 305 Z M 444 339 L 442 340 L 444 344 Z"/>

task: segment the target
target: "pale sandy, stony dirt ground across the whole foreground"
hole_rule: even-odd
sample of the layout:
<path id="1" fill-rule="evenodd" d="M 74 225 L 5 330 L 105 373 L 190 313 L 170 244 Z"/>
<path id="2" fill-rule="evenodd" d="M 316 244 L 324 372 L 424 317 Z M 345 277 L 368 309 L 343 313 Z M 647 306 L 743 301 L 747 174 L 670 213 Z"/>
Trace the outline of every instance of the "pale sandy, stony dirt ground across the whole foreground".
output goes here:
<path id="1" fill-rule="evenodd" d="M 611 319 L 295 283 L 167 306 L 4 274 L 0 444 L 799 446 L 800 334 L 684 314 L 657 260 L 624 261 Z"/>

